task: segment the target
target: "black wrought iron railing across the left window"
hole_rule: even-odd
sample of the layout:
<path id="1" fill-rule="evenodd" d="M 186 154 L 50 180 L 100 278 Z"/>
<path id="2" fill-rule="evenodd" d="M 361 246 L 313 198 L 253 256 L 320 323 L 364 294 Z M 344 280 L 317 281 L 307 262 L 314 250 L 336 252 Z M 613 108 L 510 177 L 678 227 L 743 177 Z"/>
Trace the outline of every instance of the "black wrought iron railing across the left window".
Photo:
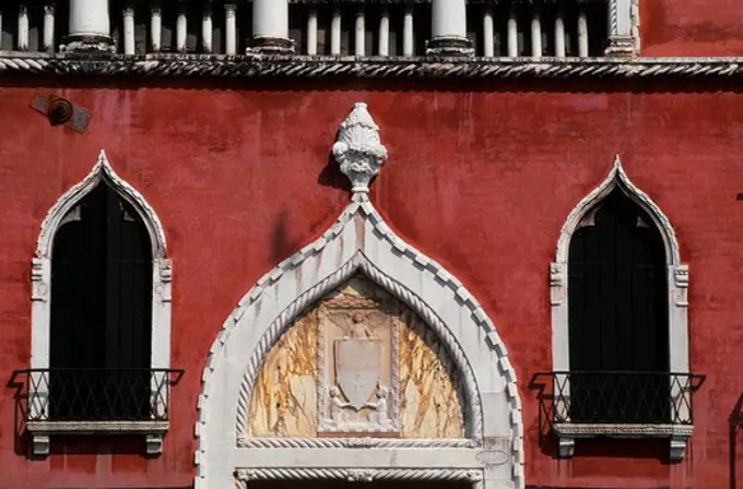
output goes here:
<path id="1" fill-rule="evenodd" d="M 87 425 L 104 430 L 167 426 L 169 387 L 182 374 L 170 369 L 30 369 L 25 377 L 28 429 Z M 66 429 L 61 429 L 67 431 Z"/>

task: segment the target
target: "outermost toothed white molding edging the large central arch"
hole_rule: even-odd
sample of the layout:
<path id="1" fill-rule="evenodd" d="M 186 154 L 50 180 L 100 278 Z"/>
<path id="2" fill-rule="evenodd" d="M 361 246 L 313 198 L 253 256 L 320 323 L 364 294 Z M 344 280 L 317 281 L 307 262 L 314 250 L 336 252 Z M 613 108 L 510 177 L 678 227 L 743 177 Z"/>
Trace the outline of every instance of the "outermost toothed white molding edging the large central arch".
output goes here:
<path id="1" fill-rule="evenodd" d="M 471 311 L 471 315 L 476 324 L 486 332 L 486 341 L 490 348 L 495 353 L 498 362 L 498 370 L 504 375 L 506 381 L 506 396 L 510 404 L 509 425 L 512 434 L 511 453 L 514 455 L 514 481 L 516 488 L 521 488 L 523 481 L 523 425 L 521 422 L 521 398 L 518 393 L 518 384 L 516 372 L 508 359 L 506 346 L 500 336 L 495 330 L 495 325 L 487 317 L 482 306 L 472 297 L 467 288 L 453 276 L 451 276 L 441 265 L 431 260 L 425 254 L 421 253 L 414 247 L 408 244 L 400 239 L 382 220 L 374 206 L 368 202 L 365 194 L 354 194 L 352 202 L 341 213 L 335 224 L 333 224 L 328 231 L 326 231 L 317 241 L 306 246 L 299 252 L 281 262 L 272 271 L 263 275 L 250 291 L 243 297 L 237 307 L 233 311 L 231 318 L 225 322 L 222 330 L 214 339 L 207 365 L 201 375 L 201 393 L 197 402 L 197 422 L 194 426 L 194 437 L 197 439 L 197 451 L 194 453 L 194 465 L 197 467 L 197 480 L 203 477 L 203 465 L 201 463 L 203 444 L 205 441 L 205 431 L 203 426 L 207 422 L 205 410 L 203 409 L 205 399 L 211 393 L 211 375 L 216 367 L 220 357 L 224 355 L 225 346 L 235 325 L 240 321 L 246 310 L 255 303 L 263 294 L 266 287 L 274 284 L 281 276 L 292 271 L 302 263 L 317 254 L 319 254 L 325 247 L 337 239 L 343 231 L 345 225 L 356 215 L 359 214 L 363 218 L 369 219 L 377 235 L 382 240 L 387 241 L 396 253 L 411 260 L 422 271 L 433 274 L 439 284 L 448 287 L 455 295 L 455 300 L 459 301 L 464 308 Z M 245 412 L 245 405 L 243 406 Z"/>

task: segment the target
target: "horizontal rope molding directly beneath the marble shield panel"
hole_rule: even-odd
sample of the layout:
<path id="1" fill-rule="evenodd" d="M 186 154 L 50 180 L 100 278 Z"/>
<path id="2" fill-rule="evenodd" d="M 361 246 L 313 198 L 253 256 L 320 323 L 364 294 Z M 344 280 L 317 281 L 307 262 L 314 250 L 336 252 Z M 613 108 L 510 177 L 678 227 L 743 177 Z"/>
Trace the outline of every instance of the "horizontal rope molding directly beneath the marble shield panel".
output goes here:
<path id="1" fill-rule="evenodd" d="M 467 438 L 251 438 L 240 437 L 243 449 L 474 449 L 477 443 Z"/>

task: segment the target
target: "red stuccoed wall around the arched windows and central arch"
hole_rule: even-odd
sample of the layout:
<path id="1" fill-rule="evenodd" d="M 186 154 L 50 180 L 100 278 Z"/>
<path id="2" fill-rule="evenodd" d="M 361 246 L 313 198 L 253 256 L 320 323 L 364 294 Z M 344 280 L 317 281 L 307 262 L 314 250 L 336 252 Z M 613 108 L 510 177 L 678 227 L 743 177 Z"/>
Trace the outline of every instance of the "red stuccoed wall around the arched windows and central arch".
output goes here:
<path id="1" fill-rule="evenodd" d="M 523 401 L 530 485 L 728 487 L 728 417 L 743 385 L 743 95 L 696 85 L 273 83 L 131 88 L 71 85 L 87 131 L 52 128 L 0 87 L 0 379 L 27 368 L 30 262 L 46 212 L 104 148 L 157 212 L 174 261 L 173 390 L 164 454 L 143 442 L 56 443 L 31 461 L 14 437 L 12 387 L 0 392 L 0 487 L 176 487 L 192 480 L 193 422 L 209 347 L 238 299 L 318 237 L 347 202 L 328 166 L 339 123 L 364 100 L 389 160 L 371 199 L 402 237 L 457 275 L 505 339 Z M 673 223 L 691 266 L 696 395 L 686 458 L 665 443 L 578 445 L 557 462 L 540 446 L 536 371 L 551 370 L 547 265 L 569 211 L 614 154 Z M 544 451 L 543 451 L 544 450 Z M 743 451 L 743 448 L 740 449 Z M 97 452 L 97 453 L 96 453 Z M 107 454 L 110 452 L 113 454 Z M 743 460 L 739 472 L 743 470 Z"/>

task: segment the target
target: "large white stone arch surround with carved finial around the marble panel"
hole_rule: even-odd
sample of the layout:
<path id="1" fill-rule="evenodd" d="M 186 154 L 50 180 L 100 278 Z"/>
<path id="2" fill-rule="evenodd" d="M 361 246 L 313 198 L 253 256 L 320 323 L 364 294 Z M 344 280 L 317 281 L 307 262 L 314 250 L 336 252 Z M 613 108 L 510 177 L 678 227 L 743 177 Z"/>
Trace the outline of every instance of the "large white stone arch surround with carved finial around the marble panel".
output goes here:
<path id="1" fill-rule="evenodd" d="M 240 299 L 212 344 L 196 424 L 197 489 L 245 489 L 251 480 L 465 480 L 522 489 L 523 426 L 516 373 L 493 322 L 441 265 L 398 237 L 366 194 L 386 158 L 364 104 L 333 147 L 353 196 L 317 241 L 267 273 Z M 378 130 L 378 129 L 377 129 Z M 340 156 L 339 156 L 340 155 Z M 281 334 L 354 274 L 418 313 L 462 377 L 465 430 L 456 439 L 263 438 L 247 416 L 257 373 Z"/>

